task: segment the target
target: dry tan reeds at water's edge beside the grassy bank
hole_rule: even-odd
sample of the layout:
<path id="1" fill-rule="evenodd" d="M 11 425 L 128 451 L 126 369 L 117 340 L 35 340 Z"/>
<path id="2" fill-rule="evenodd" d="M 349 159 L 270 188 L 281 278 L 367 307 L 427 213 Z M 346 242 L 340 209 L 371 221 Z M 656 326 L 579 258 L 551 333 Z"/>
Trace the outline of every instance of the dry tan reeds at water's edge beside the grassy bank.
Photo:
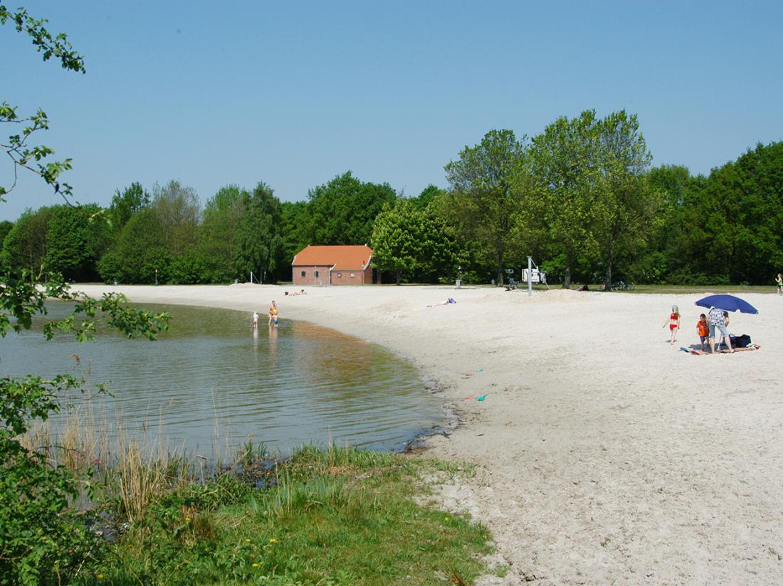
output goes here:
<path id="1" fill-rule="evenodd" d="M 249 437 L 241 446 L 232 444 L 229 429 L 219 425 L 217 405 L 212 458 L 207 458 L 189 453 L 184 444 L 171 446 L 163 412 L 139 424 L 119 412 L 109 417 L 110 403 L 88 394 L 62 397 L 61 404 L 68 407 L 44 422 L 35 421 L 20 437 L 23 446 L 44 455 L 49 466 L 64 466 L 82 479 L 82 490 L 71 505 L 92 507 L 88 494 L 94 492 L 97 500 L 115 502 L 129 523 L 143 519 L 150 505 L 187 484 L 227 469 L 250 469 L 268 458 L 265 446 Z M 128 430 L 124 422 L 131 420 L 134 425 Z"/>

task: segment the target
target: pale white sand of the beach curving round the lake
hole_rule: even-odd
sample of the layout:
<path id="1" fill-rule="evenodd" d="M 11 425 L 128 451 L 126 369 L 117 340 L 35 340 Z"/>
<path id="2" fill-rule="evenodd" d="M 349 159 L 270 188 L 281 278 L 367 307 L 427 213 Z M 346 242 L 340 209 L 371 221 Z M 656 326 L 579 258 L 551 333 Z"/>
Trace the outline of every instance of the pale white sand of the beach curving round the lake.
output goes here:
<path id="1" fill-rule="evenodd" d="M 380 343 L 446 390 L 464 422 L 431 454 L 478 474 L 441 487 L 496 537 L 485 584 L 783 584 L 783 297 L 731 331 L 760 351 L 693 356 L 701 295 L 502 289 L 161 286 L 139 302 L 228 307 Z M 446 297 L 457 304 L 426 307 Z M 662 324 L 683 312 L 675 347 Z M 476 372 L 474 376 L 465 376 Z M 487 394 L 483 402 L 464 397 Z"/>

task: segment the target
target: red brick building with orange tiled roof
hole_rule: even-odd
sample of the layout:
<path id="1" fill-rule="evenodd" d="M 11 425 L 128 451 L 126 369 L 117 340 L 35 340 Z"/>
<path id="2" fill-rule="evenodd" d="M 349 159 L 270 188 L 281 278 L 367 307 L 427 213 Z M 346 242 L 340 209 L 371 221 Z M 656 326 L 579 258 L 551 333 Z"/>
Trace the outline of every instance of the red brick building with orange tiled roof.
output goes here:
<path id="1" fill-rule="evenodd" d="M 308 246 L 291 262 L 294 285 L 369 285 L 370 246 Z"/>

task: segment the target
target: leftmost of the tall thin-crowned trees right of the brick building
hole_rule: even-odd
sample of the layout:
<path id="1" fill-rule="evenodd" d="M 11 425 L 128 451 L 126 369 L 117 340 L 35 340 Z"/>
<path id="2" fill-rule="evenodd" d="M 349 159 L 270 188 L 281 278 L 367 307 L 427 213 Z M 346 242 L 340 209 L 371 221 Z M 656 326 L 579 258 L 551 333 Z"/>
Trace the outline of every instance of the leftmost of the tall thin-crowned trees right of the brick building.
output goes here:
<path id="1" fill-rule="evenodd" d="M 493 130 L 446 165 L 453 223 L 465 239 L 492 257 L 499 285 L 507 261 L 519 253 L 514 227 L 524 198 L 514 189 L 514 174 L 524 156 L 525 147 L 513 131 Z"/>

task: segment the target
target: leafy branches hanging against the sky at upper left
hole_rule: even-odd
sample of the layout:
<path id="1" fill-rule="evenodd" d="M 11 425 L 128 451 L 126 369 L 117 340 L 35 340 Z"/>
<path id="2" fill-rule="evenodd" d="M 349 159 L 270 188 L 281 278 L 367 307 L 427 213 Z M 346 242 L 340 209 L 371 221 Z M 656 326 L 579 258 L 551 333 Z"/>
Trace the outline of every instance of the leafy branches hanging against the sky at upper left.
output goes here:
<path id="1" fill-rule="evenodd" d="M 74 51 L 66 34 L 60 33 L 52 36 L 49 33 L 44 26 L 49 22 L 48 20 L 35 19 L 27 13 L 26 9 L 19 8 L 13 12 L 5 5 L 0 4 L 0 25 L 8 21 L 13 23 L 17 32 L 27 33 L 36 50 L 42 53 L 44 61 L 55 57 L 60 60 L 63 69 L 85 73 L 84 58 Z M 71 195 L 72 189 L 67 183 L 60 183 L 58 178 L 63 171 L 68 171 L 71 168 L 70 159 L 44 163 L 42 161 L 54 151 L 48 146 L 27 144 L 28 138 L 34 132 L 49 129 L 49 118 L 40 109 L 30 117 L 19 117 L 16 109 L 17 106 L 11 106 L 5 100 L 0 103 L 0 123 L 24 125 L 19 134 L 10 135 L 7 142 L 0 142 L 0 149 L 9 156 L 13 164 L 13 182 L 8 187 L 0 185 L 0 201 L 3 200 L 3 196 L 16 187 L 19 167 L 39 175 L 67 201 L 67 196 Z"/>

